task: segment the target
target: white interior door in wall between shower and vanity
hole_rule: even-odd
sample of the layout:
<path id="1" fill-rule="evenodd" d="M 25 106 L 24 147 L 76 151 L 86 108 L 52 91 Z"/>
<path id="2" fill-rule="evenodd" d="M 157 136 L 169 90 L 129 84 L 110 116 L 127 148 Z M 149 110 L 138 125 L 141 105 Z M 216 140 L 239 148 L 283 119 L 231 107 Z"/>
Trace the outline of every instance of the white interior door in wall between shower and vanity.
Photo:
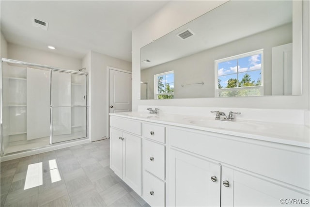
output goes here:
<path id="1" fill-rule="evenodd" d="M 132 74 L 109 68 L 109 112 L 132 110 Z"/>

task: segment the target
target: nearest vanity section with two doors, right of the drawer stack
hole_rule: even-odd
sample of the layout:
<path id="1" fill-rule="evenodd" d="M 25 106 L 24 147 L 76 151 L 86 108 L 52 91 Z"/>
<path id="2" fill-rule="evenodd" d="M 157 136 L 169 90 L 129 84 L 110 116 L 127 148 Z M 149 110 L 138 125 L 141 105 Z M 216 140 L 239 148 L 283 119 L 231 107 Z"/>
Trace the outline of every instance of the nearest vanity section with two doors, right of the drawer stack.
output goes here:
<path id="1" fill-rule="evenodd" d="M 309 149 L 181 127 L 168 130 L 168 206 L 282 206 L 280 199 L 309 206 Z"/>

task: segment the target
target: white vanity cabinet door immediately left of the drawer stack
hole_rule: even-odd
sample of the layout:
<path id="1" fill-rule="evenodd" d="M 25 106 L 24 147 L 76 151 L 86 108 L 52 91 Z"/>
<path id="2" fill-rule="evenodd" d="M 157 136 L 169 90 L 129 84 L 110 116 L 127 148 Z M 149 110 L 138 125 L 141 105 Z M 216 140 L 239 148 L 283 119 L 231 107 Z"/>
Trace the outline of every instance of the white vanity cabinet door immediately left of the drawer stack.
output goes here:
<path id="1" fill-rule="evenodd" d="M 142 144 L 141 138 L 123 132 L 123 179 L 134 191 L 141 195 Z"/>

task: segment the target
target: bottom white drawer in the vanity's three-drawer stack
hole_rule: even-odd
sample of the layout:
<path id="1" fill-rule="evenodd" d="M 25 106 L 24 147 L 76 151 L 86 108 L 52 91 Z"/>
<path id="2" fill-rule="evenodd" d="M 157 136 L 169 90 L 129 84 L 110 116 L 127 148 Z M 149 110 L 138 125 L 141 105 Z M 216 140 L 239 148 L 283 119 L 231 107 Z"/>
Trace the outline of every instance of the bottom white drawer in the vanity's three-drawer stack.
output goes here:
<path id="1" fill-rule="evenodd" d="M 165 206 L 165 182 L 144 171 L 142 189 L 142 197 L 150 206 Z"/>

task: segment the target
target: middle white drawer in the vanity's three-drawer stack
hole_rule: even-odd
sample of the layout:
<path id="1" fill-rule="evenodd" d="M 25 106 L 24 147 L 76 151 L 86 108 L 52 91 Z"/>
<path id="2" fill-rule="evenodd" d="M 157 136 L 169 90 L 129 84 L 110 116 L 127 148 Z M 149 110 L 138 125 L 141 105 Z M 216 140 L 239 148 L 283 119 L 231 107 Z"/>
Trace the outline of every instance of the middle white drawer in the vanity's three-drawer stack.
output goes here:
<path id="1" fill-rule="evenodd" d="M 165 180 L 165 146 L 143 140 L 144 169 Z"/>

